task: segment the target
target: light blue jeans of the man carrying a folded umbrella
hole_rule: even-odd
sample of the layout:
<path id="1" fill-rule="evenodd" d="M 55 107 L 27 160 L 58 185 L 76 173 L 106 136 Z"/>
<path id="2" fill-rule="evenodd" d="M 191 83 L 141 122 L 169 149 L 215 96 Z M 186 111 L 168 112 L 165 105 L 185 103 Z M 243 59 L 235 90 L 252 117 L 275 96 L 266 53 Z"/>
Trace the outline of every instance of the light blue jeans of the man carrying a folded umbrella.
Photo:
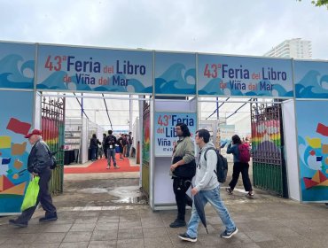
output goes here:
<path id="1" fill-rule="evenodd" d="M 231 220 L 228 209 L 223 204 L 223 200 L 220 197 L 220 188 L 217 187 L 214 190 L 200 190 L 199 193 L 201 201 L 205 207 L 207 202 L 215 208 L 216 213 L 219 215 L 223 225 L 227 231 L 235 229 L 236 225 Z M 199 226 L 199 214 L 197 213 L 196 207 L 192 204 L 191 220 L 188 223 L 187 234 L 191 237 L 197 237 L 197 229 Z"/>

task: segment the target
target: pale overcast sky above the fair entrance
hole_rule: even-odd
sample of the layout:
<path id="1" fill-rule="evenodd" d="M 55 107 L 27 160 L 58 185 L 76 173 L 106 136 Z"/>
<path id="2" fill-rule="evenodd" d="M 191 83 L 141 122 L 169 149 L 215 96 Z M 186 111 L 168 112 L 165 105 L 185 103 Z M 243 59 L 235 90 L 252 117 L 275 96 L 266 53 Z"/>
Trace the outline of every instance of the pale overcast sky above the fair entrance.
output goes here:
<path id="1" fill-rule="evenodd" d="M 0 40 L 261 56 L 286 39 L 328 59 L 310 0 L 0 0 Z"/>

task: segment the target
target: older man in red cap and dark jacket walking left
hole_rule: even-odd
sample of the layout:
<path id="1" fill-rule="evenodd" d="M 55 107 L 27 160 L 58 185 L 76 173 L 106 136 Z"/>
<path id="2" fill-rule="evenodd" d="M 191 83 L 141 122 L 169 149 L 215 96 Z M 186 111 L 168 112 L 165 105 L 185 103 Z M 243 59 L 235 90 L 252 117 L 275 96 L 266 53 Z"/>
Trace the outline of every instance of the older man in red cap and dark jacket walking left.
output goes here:
<path id="1" fill-rule="evenodd" d="M 41 130 L 34 129 L 32 133 L 25 136 L 32 145 L 28 155 L 27 170 L 34 176 L 40 176 L 39 195 L 35 206 L 24 210 L 16 220 L 10 220 L 9 223 L 14 226 L 26 228 L 28 221 L 35 213 L 36 206 L 40 202 L 45 211 L 45 216 L 39 221 L 56 221 L 56 207 L 52 204 L 51 194 L 49 193 L 49 181 L 51 180 L 51 158 L 48 145 L 42 140 Z"/>

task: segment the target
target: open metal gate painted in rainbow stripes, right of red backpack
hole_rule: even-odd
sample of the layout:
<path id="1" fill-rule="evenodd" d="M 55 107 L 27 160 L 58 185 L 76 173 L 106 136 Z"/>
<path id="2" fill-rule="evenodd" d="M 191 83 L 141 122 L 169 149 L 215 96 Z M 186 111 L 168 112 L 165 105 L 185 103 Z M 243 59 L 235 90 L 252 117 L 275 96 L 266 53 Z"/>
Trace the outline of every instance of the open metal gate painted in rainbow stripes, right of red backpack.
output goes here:
<path id="1" fill-rule="evenodd" d="M 287 197 L 280 104 L 251 104 L 254 187 Z"/>

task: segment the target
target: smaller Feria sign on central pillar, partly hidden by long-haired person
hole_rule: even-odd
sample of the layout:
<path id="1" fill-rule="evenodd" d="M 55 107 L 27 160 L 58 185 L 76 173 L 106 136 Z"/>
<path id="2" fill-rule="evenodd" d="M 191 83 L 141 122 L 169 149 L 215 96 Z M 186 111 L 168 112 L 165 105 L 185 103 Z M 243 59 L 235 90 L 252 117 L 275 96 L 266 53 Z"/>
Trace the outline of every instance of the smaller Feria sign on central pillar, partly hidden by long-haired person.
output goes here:
<path id="1" fill-rule="evenodd" d="M 184 123 L 194 139 L 196 132 L 196 113 L 194 112 L 155 112 L 155 156 L 171 156 L 178 137 L 176 124 Z"/>

